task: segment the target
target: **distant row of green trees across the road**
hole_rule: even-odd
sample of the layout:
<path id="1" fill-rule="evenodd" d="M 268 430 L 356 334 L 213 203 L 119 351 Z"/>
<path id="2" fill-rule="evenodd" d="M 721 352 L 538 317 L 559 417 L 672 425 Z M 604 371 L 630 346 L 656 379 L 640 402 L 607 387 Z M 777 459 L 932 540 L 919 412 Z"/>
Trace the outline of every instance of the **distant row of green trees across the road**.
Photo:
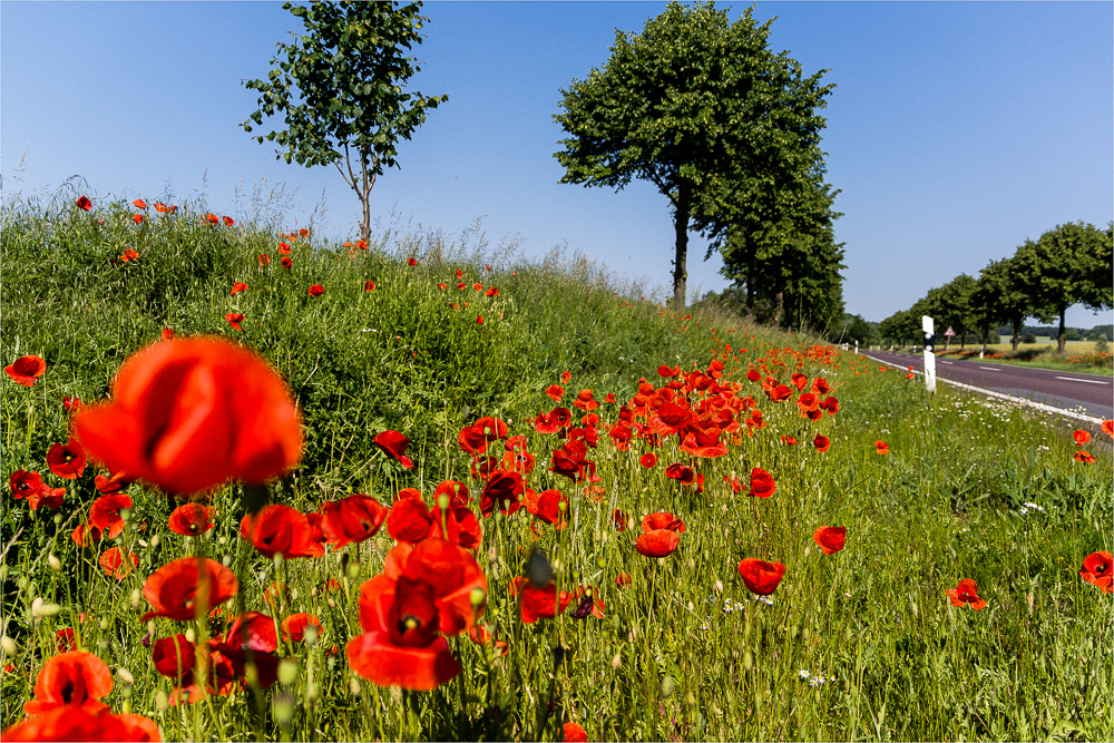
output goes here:
<path id="1" fill-rule="evenodd" d="M 936 334 L 950 326 L 960 348 L 968 332 L 986 343 L 991 331 L 1012 330 L 1017 351 L 1027 317 L 1043 323 L 1059 319 L 1057 353 L 1067 340 L 1064 313 L 1074 304 L 1089 310 L 1114 306 L 1114 222 L 1098 229 L 1083 222 L 1058 225 L 1037 241 L 1026 238 L 1013 257 L 991 261 L 978 278 L 959 274 L 931 289 L 911 307 L 879 323 L 883 339 L 916 343 L 922 338 L 921 316 L 936 321 Z"/>

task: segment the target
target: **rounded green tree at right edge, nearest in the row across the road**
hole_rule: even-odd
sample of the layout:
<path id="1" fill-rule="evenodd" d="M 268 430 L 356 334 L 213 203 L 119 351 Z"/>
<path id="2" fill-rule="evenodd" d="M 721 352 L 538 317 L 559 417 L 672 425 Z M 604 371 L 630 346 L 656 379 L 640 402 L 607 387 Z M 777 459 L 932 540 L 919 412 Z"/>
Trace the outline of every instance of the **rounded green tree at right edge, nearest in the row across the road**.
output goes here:
<path id="1" fill-rule="evenodd" d="M 1114 306 L 1114 224 L 1105 232 L 1083 222 L 1057 225 L 1017 248 L 1017 280 L 1040 322 L 1059 316 L 1057 353 L 1066 345 L 1064 313 L 1073 304 L 1091 310 Z"/>

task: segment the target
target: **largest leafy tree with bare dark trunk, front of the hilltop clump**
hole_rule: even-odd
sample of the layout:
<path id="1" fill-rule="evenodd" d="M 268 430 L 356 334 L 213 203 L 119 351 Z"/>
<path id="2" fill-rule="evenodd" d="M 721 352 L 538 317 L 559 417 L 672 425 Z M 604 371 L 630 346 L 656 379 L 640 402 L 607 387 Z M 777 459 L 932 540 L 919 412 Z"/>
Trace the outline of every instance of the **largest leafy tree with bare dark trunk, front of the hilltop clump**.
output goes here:
<path id="1" fill-rule="evenodd" d="M 671 2 L 642 33 L 616 31 L 603 69 L 561 90 L 554 119 L 570 136 L 555 154 L 560 183 L 619 190 L 639 178 L 670 199 L 675 306 L 685 303 L 690 226 L 726 234 L 710 215 L 747 208 L 745 195 L 775 174 L 807 180 L 814 163 L 823 119 L 813 111 L 831 86 L 819 85 L 822 72 L 802 80 L 797 62 L 770 50 L 770 23 L 750 9 L 732 23 L 712 2 Z"/>

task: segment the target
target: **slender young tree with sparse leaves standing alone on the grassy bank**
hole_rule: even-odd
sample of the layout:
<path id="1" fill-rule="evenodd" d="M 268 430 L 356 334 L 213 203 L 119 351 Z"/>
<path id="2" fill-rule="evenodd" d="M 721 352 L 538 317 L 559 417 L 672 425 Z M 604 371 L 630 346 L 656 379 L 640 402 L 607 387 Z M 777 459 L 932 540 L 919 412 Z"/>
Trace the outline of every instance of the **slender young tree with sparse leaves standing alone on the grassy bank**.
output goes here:
<path id="1" fill-rule="evenodd" d="M 258 109 L 241 126 L 252 131 L 264 116 L 284 115 L 284 130 L 253 138 L 276 143 L 278 158 L 287 163 L 335 165 L 360 198 L 360 236 L 368 241 L 375 178 L 384 168 L 399 167 L 399 140 L 410 139 L 426 111 L 449 99 L 405 91 L 421 70 L 407 56 L 422 41 L 421 2 L 286 2 L 283 8 L 302 19 L 305 33 L 277 43 L 266 80 L 243 82 L 260 98 Z"/>

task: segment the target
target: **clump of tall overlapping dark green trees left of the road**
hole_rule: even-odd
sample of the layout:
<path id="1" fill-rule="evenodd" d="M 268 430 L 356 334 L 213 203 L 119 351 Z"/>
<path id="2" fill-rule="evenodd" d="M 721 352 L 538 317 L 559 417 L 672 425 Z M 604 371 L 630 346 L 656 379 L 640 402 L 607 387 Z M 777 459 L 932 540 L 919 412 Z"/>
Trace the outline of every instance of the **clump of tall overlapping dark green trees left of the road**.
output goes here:
<path id="1" fill-rule="evenodd" d="M 751 9 L 732 23 L 713 2 L 671 2 L 642 33 L 616 31 L 603 69 L 561 90 L 564 111 L 554 119 L 570 136 L 555 154 L 566 169 L 560 183 L 620 190 L 638 178 L 668 198 L 674 305 L 685 302 L 692 225 L 724 248 L 725 263 L 763 246 L 770 280 L 795 292 L 786 305 L 821 296 L 838 305 L 838 319 L 841 295 L 834 301 L 830 289 L 818 286 L 838 280 L 842 254 L 813 250 L 833 245 L 823 234 L 831 192 L 818 187 L 824 119 L 815 109 L 834 86 L 820 85 L 823 71 L 802 79 L 786 52 L 774 55 L 771 23 L 759 25 Z M 743 243 L 727 239 L 732 229 Z M 743 264 L 746 276 L 758 275 L 753 260 L 732 258 Z"/>

